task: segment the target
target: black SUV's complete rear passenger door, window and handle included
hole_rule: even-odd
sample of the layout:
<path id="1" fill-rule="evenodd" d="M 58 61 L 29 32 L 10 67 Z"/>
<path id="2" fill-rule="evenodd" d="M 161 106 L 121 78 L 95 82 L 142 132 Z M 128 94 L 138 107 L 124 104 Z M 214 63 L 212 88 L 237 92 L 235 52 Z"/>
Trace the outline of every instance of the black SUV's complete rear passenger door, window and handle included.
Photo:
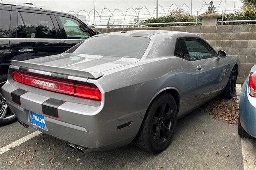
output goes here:
<path id="1" fill-rule="evenodd" d="M 10 45 L 15 60 L 26 60 L 65 51 L 65 42 L 54 26 L 53 13 L 12 9 Z"/>

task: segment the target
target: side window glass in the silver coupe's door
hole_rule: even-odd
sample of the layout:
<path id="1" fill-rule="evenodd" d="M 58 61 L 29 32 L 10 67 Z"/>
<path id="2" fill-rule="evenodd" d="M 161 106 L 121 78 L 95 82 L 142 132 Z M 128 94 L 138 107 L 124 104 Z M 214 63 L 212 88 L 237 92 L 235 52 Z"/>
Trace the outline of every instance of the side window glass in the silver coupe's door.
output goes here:
<path id="1" fill-rule="evenodd" d="M 190 60 L 216 57 L 217 53 L 207 43 L 199 39 L 184 39 Z"/>

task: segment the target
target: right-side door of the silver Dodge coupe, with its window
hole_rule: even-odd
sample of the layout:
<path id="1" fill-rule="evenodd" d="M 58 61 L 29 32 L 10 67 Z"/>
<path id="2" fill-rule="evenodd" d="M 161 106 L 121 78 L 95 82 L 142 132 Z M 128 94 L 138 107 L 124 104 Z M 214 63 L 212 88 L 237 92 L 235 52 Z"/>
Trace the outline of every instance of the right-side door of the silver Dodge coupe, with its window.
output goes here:
<path id="1" fill-rule="evenodd" d="M 184 42 L 188 50 L 187 58 L 197 70 L 196 98 L 198 104 L 202 104 L 216 97 L 225 87 L 228 68 L 222 60 L 217 60 L 218 54 L 204 40 L 185 38 Z"/>

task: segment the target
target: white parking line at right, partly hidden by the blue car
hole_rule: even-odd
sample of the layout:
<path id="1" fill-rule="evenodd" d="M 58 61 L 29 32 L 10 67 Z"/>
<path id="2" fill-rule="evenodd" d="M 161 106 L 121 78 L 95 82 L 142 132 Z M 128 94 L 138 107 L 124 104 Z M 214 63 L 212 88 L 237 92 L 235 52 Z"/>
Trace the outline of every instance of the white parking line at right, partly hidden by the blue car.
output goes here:
<path id="1" fill-rule="evenodd" d="M 236 97 L 239 101 L 240 93 L 241 93 L 241 85 L 236 85 Z M 241 138 L 241 145 L 242 145 L 242 155 L 243 155 L 243 162 L 244 162 L 244 170 L 252 170 L 256 169 L 256 156 L 254 154 L 254 140 L 248 138 Z"/>

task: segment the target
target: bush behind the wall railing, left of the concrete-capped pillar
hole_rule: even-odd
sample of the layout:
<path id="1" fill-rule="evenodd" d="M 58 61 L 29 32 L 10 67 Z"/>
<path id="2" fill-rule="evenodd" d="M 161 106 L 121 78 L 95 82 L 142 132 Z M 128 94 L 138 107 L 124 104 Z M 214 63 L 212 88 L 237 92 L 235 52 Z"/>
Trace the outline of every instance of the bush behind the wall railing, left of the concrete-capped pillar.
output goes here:
<path id="1" fill-rule="evenodd" d="M 149 18 L 142 21 L 142 24 L 148 23 L 166 23 L 166 22 L 193 22 L 196 17 L 190 16 L 188 12 L 182 9 L 172 10 L 168 16 L 160 16 L 158 18 Z M 166 26 L 190 26 L 195 24 L 168 24 L 168 25 L 148 25 L 146 27 L 166 27 Z"/>

